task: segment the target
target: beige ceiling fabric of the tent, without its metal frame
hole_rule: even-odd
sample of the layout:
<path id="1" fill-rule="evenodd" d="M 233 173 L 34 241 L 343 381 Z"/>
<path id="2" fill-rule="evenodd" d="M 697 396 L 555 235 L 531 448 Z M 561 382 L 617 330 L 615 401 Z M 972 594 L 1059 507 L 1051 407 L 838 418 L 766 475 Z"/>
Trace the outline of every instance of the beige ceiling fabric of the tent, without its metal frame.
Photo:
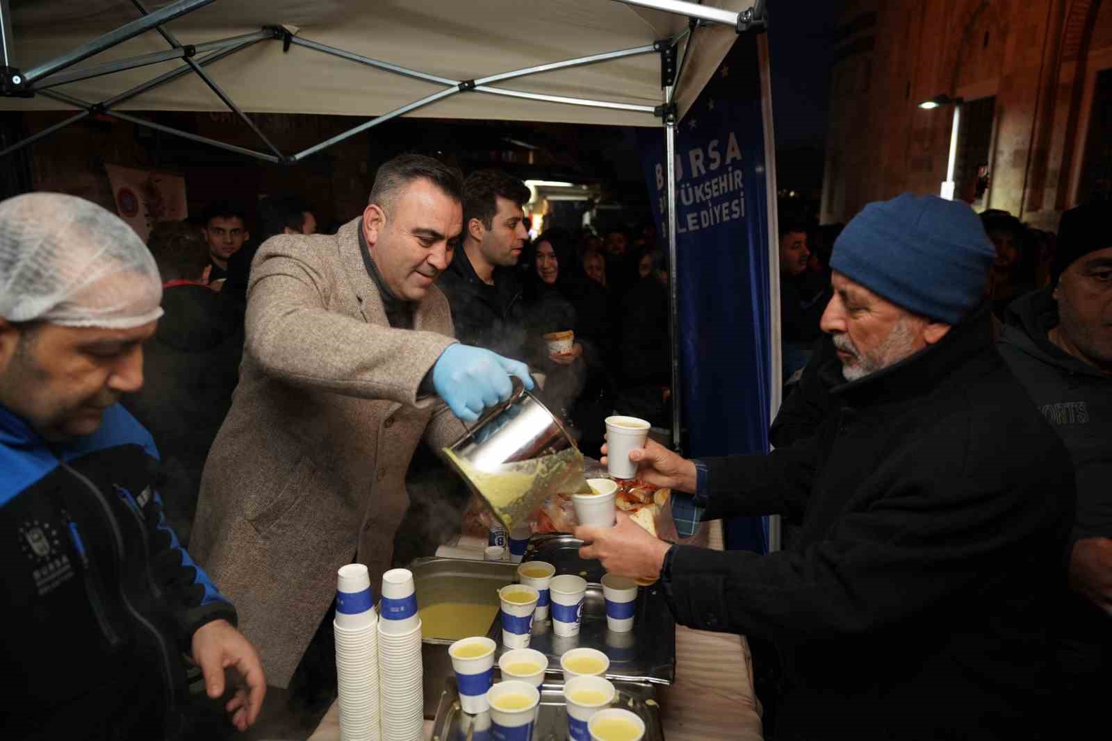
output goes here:
<path id="1" fill-rule="evenodd" d="M 139 17 L 128 0 L 12 0 L 14 64 L 29 70 Z M 148 2 L 148 10 L 167 2 Z M 741 11 L 746 0 L 704 4 Z M 565 59 L 631 49 L 686 27 L 679 16 L 610 0 L 216 0 L 166 26 L 181 43 L 200 43 L 286 24 L 298 37 L 391 64 L 466 80 Z M 681 114 L 729 50 L 726 27 L 696 31 L 694 53 L 679 81 Z M 165 51 L 155 30 L 81 62 Z M 57 90 L 99 102 L 176 69 L 180 60 L 63 84 Z M 70 68 L 75 69 L 75 68 Z M 207 71 L 245 111 L 334 113 L 374 117 L 441 90 L 437 83 L 404 78 L 300 47 L 286 53 L 266 40 L 222 59 Z M 43 81 L 49 80 L 46 78 Z M 661 103 L 656 53 L 556 70 L 496 83 L 513 90 L 639 106 Z M 0 100 L 7 110 L 70 109 L 38 96 Z M 219 99 L 196 74 L 149 90 L 120 110 L 222 111 Z M 460 119 L 563 121 L 659 126 L 651 113 L 467 92 L 408 116 Z"/>

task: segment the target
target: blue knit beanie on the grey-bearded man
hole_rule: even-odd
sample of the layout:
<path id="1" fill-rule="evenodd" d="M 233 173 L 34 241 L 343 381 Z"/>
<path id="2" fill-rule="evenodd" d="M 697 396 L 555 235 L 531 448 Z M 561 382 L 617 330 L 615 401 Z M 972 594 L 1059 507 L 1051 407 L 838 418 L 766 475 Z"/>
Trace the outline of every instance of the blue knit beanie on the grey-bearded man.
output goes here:
<path id="1" fill-rule="evenodd" d="M 995 258 L 967 204 L 904 193 L 870 203 L 846 224 L 831 268 L 909 311 L 956 324 L 981 304 Z"/>

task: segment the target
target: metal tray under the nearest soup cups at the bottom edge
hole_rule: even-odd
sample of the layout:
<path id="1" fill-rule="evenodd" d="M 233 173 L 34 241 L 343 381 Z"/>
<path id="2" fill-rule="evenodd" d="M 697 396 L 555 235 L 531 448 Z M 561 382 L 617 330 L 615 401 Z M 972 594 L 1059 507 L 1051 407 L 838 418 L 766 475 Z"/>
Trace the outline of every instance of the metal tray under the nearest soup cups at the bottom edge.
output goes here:
<path id="1" fill-rule="evenodd" d="M 498 670 L 495 669 L 495 674 Z M 497 679 L 496 679 L 497 681 Z M 661 707 L 656 703 L 656 689 L 652 684 L 614 682 L 617 698 L 614 708 L 624 708 L 637 713 L 645 721 L 644 741 L 664 741 L 661 727 Z M 476 719 L 486 717 L 468 715 L 459 707 L 456 678 L 449 677 L 440 694 L 440 704 L 433 722 L 433 741 L 485 741 L 488 733 L 476 732 Z M 479 725 L 485 725 L 480 722 Z M 545 683 L 540 688 L 540 711 L 533 729 L 533 741 L 565 741 L 567 739 L 567 710 L 564 707 L 563 683 Z"/>

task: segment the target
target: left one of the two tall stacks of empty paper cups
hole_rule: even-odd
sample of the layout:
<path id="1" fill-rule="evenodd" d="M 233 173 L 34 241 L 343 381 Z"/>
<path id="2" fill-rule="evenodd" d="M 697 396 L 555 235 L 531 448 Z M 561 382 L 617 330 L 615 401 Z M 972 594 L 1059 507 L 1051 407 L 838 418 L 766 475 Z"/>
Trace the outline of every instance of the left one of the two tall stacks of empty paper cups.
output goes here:
<path id="1" fill-rule="evenodd" d="M 336 675 L 344 741 L 378 741 L 378 614 L 367 567 L 349 563 L 337 574 Z"/>

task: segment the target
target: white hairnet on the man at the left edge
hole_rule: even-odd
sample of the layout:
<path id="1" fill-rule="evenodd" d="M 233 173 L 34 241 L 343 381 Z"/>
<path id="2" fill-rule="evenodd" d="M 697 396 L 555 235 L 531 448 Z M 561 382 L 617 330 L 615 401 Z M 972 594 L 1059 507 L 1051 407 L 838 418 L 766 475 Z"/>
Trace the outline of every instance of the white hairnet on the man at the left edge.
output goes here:
<path id="1" fill-rule="evenodd" d="M 161 302 L 155 258 L 115 213 L 61 193 L 0 202 L 0 317 L 131 329 Z"/>

